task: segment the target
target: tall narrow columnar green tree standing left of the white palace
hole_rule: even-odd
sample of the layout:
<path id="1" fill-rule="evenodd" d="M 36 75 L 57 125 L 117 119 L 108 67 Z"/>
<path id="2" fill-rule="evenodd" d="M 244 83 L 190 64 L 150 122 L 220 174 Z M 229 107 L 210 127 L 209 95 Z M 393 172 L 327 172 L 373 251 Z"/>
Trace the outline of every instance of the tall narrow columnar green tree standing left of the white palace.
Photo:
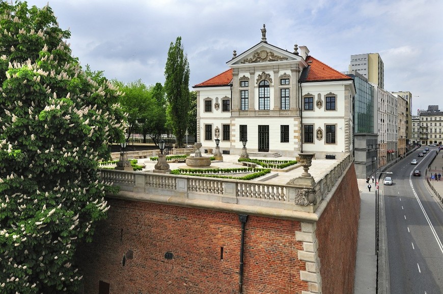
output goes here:
<path id="1" fill-rule="evenodd" d="M 170 106 L 168 115 L 177 143 L 182 146 L 188 122 L 189 63 L 183 52 L 181 37 L 177 37 L 175 44 L 171 42 L 164 76 L 164 91 Z"/>

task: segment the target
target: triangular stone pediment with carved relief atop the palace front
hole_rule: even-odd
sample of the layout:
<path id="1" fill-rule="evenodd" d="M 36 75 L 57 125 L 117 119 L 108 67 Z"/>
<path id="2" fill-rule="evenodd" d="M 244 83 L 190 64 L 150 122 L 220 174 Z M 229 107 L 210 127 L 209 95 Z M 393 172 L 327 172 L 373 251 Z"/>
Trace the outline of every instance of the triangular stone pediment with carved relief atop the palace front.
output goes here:
<path id="1" fill-rule="evenodd" d="M 228 66 L 245 66 L 246 64 L 268 63 L 268 62 L 290 62 L 302 61 L 299 55 L 275 47 L 265 42 L 260 42 L 256 46 L 235 56 L 226 62 Z"/>

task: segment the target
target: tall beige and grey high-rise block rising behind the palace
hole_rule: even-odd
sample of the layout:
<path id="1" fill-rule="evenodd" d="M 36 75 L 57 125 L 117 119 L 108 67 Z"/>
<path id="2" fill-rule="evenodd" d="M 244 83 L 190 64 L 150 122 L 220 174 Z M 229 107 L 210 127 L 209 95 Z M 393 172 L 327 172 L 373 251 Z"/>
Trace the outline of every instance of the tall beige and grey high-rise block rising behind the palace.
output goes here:
<path id="1" fill-rule="evenodd" d="M 384 65 L 378 53 L 351 55 L 349 72 L 352 71 L 358 72 L 367 78 L 369 82 L 384 89 Z"/>

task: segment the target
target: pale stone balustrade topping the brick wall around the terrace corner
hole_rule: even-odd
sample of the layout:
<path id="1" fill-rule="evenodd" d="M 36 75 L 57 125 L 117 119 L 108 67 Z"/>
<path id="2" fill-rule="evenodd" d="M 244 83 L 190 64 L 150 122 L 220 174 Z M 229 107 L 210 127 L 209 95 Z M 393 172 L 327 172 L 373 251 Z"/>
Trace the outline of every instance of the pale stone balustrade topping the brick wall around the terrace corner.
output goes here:
<path id="1" fill-rule="evenodd" d="M 314 186 L 300 186 L 291 183 L 266 183 L 222 178 L 157 174 L 151 172 L 128 172 L 100 170 L 101 178 L 120 186 L 122 191 L 159 197 L 180 197 L 221 203 L 275 208 L 291 211 L 314 212 L 331 190 L 340 182 L 352 164 L 348 155 Z M 308 197 L 309 194 L 309 197 Z M 314 197 L 314 199 L 312 199 Z"/>

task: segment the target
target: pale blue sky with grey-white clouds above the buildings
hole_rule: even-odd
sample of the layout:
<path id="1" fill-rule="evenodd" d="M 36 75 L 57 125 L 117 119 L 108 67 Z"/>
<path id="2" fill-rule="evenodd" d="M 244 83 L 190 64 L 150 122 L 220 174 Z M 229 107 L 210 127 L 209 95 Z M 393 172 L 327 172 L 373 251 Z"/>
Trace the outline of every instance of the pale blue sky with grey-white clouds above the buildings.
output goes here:
<path id="1" fill-rule="evenodd" d="M 410 91 L 412 115 L 443 110 L 441 0 L 29 0 L 46 4 L 71 31 L 72 54 L 84 67 L 124 83 L 164 83 L 171 43 L 182 38 L 191 87 L 226 70 L 237 54 L 261 41 L 310 55 L 348 71 L 353 54 L 379 53 L 384 88 Z"/>

